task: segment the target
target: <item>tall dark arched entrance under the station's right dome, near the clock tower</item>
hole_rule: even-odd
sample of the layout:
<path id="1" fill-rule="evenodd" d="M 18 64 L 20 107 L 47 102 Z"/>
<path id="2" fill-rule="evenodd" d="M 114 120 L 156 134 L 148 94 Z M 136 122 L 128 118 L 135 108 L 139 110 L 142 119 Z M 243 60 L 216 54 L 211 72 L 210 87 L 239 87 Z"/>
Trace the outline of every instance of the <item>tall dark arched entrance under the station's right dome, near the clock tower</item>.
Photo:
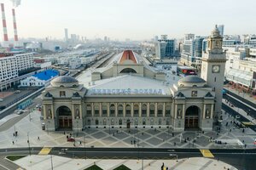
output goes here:
<path id="1" fill-rule="evenodd" d="M 199 128 L 200 108 L 196 105 L 190 106 L 185 112 L 185 129 Z"/>

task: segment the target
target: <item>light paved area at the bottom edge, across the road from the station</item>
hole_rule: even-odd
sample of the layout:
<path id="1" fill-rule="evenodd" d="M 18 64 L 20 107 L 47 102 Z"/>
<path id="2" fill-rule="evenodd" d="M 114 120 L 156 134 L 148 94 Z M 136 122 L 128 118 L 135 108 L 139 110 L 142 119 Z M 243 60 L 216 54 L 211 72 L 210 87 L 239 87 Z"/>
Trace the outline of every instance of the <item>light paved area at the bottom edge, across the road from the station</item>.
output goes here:
<path id="1" fill-rule="evenodd" d="M 62 170 L 62 169 L 73 169 L 73 170 L 83 170 L 87 167 L 96 165 L 101 167 L 104 170 L 112 170 L 121 165 L 131 168 L 132 170 L 141 170 L 142 167 L 144 170 L 155 170 L 160 169 L 163 165 L 172 170 L 213 170 L 213 169 L 228 169 L 236 170 L 235 167 L 232 167 L 223 161 L 217 161 L 209 158 L 203 157 L 193 157 L 189 159 L 181 160 L 93 160 L 93 159 L 70 159 L 61 156 L 26 156 L 17 161 L 20 167 L 26 168 L 26 170 L 34 169 L 44 169 L 50 170 L 51 162 L 53 164 L 53 169 Z"/>

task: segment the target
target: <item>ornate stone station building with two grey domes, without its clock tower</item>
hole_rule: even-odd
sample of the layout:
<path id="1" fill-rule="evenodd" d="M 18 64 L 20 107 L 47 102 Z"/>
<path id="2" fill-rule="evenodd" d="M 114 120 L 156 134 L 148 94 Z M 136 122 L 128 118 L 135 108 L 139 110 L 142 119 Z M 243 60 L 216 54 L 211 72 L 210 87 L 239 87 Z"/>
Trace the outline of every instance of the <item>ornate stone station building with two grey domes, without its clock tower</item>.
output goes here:
<path id="1" fill-rule="evenodd" d="M 42 94 L 46 130 L 85 127 L 170 127 L 212 130 L 215 91 L 201 77 L 179 79 L 144 65 L 127 50 L 104 68 L 57 77 Z M 167 78 L 168 77 L 168 78 Z"/>

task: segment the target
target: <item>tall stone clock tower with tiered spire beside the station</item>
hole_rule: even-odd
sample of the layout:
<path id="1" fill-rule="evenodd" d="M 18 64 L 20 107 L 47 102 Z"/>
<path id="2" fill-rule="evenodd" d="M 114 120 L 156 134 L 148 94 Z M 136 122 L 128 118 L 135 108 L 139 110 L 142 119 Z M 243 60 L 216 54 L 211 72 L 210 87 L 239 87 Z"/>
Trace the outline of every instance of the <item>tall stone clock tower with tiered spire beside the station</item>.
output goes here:
<path id="1" fill-rule="evenodd" d="M 224 69 L 226 54 L 222 48 L 223 37 L 220 36 L 217 26 L 208 37 L 207 52 L 201 58 L 201 78 L 215 93 L 215 107 L 213 118 L 216 121 L 221 113 L 222 89 L 224 86 Z"/>

